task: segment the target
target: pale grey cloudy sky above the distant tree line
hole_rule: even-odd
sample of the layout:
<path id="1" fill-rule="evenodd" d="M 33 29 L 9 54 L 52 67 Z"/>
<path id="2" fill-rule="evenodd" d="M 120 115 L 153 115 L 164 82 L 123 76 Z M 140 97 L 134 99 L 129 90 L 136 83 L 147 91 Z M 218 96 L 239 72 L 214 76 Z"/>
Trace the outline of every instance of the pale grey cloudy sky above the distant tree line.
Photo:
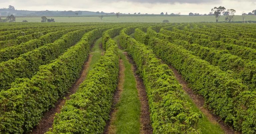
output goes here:
<path id="1" fill-rule="evenodd" d="M 161 12 L 188 14 L 190 12 L 205 14 L 215 6 L 235 9 L 237 15 L 256 9 L 255 0 L 0 0 L 0 8 L 14 6 L 18 10 L 73 10 L 104 11 L 121 13 Z"/>

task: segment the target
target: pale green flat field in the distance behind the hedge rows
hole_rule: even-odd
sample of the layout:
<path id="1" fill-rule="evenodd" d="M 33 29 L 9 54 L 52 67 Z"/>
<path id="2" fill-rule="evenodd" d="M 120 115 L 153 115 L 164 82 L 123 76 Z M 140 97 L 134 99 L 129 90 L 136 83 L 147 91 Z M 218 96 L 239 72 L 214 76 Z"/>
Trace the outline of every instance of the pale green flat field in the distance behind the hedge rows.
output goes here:
<path id="1" fill-rule="evenodd" d="M 215 22 L 214 16 L 106 16 L 102 20 L 99 17 L 48 17 L 54 18 L 55 22 Z M 221 16 L 219 21 L 224 21 L 225 16 Z M 40 17 L 17 17 L 16 22 L 41 22 Z M 242 21 L 241 15 L 234 16 L 234 21 Z M 256 21 L 256 16 L 249 15 L 248 21 Z"/>

